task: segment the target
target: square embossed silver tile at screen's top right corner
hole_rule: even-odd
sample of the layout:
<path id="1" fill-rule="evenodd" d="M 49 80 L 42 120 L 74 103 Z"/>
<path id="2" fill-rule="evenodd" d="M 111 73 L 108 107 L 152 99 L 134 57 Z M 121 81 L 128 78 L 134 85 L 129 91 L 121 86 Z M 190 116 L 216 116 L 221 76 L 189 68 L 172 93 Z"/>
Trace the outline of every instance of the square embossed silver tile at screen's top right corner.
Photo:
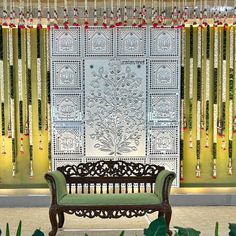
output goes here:
<path id="1" fill-rule="evenodd" d="M 150 27 L 150 56 L 179 56 L 180 30 Z"/>

